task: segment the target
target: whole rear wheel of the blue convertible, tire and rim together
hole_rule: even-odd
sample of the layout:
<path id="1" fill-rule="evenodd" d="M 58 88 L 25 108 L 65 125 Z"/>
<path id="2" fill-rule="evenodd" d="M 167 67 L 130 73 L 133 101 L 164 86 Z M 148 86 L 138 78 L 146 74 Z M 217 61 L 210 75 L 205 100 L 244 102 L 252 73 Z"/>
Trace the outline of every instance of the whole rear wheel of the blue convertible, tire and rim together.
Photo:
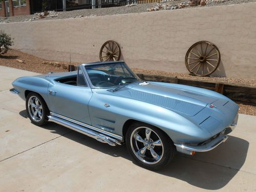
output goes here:
<path id="1" fill-rule="evenodd" d="M 48 107 L 44 99 L 37 93 L 29 93 L 26 99 L 26 110 L 31 122 L 41 126 L 47 123 Z"/>

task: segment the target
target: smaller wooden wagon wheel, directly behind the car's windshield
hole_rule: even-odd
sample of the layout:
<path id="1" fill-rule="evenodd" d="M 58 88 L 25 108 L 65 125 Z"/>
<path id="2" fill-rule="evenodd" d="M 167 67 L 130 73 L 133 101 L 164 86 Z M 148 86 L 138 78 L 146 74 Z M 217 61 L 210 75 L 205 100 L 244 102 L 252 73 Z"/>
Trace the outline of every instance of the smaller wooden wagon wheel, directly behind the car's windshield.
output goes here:
<path id="1" fill-rule="evenodd" d="M 120 59 L 121 49 L 118 43 L 114 40 L 104 42 L 100 48 L 99 58 L 101 62 L 117 61 Z"/>

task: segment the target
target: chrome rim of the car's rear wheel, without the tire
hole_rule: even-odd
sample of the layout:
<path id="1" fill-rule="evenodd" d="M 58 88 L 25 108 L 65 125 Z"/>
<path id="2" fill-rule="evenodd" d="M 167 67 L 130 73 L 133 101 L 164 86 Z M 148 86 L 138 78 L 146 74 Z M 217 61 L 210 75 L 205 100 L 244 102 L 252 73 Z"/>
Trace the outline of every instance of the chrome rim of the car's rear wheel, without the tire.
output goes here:
<path id="1" fill-rule="evenodd" d="M 28 100 L 28 111 L 30 117 L 39 122 L 43 116 L 43 110 L 40 100 L 36 96 L 31 96 Z"/>

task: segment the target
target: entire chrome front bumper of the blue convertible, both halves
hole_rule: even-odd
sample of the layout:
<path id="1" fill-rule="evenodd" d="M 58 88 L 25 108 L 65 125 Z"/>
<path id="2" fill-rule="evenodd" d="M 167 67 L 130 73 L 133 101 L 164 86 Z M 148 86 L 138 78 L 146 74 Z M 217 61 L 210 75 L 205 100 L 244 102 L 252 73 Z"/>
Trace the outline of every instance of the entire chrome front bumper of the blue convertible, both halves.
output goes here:
<path id="1" fill-rule="evenodd" d="M 211 151 L 215 147 L 217 147 L 218 145 L 220 145 L 221 143 L 227 140 L 228 138 L 227 134 L 229 134 L 234 130 L 234 128 L 237 126 L 237 122 L 238 122 L 238 114 L 236 118 L 234 118 L 234 121 L 229 126 L 227 126 L 226 129 L 224 129 L 220 134 L 218 134 L 218 137 L 202 145 L 186 145 L 183 143 L 174 143 L 174 145 L 176 146 L 178 152 L 188 154 L 188 155 L 194 155 L 195 152 Z"/>

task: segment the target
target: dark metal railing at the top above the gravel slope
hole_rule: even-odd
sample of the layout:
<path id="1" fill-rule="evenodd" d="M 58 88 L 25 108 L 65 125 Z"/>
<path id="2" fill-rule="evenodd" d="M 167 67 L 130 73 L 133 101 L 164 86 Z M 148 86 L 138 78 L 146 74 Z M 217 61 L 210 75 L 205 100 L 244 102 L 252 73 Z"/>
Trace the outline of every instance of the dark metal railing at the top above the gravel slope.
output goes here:
<path id="1" fill-rule="evenodd" d="M 17 1 L 17 0 L 16 0 Z M 94 9 L 118 7 L 128 4 L 157 3 L 160 0 L 30 0 L 31 13 L 41 11 L 72 11 L 77 9 Z"/>

